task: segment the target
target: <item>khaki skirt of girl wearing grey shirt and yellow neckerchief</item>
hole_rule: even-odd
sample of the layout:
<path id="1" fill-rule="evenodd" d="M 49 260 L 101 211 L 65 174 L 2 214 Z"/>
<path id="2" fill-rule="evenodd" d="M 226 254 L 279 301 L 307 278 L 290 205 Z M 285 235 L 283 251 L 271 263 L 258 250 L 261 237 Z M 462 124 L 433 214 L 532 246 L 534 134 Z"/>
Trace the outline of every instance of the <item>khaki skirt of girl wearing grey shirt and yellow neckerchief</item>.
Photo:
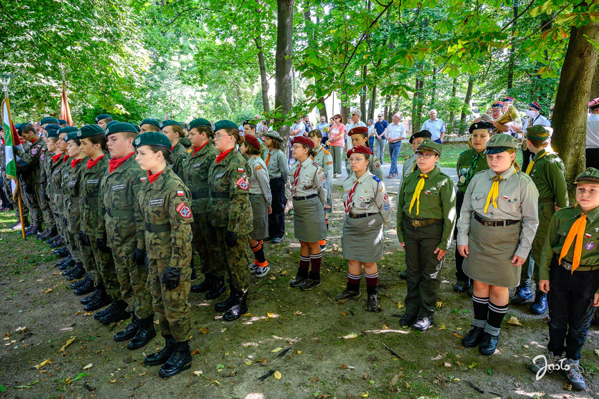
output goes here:
<path id="1" fill-rule="evenodd" d="M 521 223 L 510 226 L 483 226 L 470 218 L 468 257 L 464 273 L 469 278 L 497 287 L 516 287 L 520 284 L 520 269 L 512 264 L 520 241 Z"/>

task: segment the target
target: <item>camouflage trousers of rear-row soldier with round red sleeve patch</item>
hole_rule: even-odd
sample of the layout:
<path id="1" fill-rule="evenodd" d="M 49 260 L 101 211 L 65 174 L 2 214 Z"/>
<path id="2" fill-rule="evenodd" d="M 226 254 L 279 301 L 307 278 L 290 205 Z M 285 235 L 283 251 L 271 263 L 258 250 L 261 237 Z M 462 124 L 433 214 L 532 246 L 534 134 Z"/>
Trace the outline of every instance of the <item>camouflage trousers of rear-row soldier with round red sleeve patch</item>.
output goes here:
<path id="1" fill-rule="evenodd" d="M 250 235 L 239 235 L 237 245 L 228 246 L 225 243 L 227 228 L 216 227 L 215 229 L 217 230 L 217 251 L 221 251 L 225 255 L 226 262 L 223 263 L 231 280 L 231 285 L 237 291 L 246 292 L 250 287 L 250 271 L 248 269 L 250 258 L 247 251 L 250 246 Z"/>

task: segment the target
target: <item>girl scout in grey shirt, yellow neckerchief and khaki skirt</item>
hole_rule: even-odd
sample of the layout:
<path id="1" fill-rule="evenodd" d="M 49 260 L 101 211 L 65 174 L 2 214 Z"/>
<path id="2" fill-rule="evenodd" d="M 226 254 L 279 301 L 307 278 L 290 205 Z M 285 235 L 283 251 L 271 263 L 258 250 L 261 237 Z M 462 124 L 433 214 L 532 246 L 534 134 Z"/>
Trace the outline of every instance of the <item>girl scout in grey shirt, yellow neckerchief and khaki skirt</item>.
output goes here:
<path id="1" fill-rule="evenodd" d="M 520 282 L 539 226 L 539 192 L 530 176 L 518 171 L 517 147 L 512 135 L 489 139 L 484 151 L 489 169 L 472 178 L 457 221 L 457 250 L 466 258 L 464 273 L 474 280 L 473 329 L 462 346 L 478 346 L 487 356 L 495 353 L 509 287 Z"/>

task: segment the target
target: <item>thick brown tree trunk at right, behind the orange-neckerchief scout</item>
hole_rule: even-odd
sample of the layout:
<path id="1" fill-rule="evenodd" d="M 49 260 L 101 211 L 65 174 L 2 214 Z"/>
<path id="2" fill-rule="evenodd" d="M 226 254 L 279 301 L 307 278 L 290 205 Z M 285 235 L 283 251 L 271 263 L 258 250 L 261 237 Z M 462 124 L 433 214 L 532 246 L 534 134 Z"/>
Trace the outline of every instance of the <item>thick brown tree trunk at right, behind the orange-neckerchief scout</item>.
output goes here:
<path id="1" fill-rule="evenodd" d="M 591 41 L 598 39 L 599 24 L 596 22 L 571 28 L 551 121 L 555 132 L 551 144 L 564 160 L 572 203 L 575 196 L 574 179 L 584 170 L 587 107 L 597 65 L 597 49 Z"/>

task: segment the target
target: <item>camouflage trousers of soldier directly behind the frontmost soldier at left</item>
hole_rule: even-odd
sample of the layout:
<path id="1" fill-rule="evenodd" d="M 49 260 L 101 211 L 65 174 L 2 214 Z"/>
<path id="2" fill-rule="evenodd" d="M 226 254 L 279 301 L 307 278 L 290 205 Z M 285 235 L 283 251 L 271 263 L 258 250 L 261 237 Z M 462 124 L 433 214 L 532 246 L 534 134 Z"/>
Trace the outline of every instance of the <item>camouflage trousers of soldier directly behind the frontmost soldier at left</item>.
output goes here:
<path id="1" fill-rule="evenodd" d="M 154 309 L 148 288 L 146 266 L 144 264 L 137 266 L 137 263 L 131 260 L 136 244 L 135 237 L 130 237 L 126 242 L 115 245 L 117 248 L 112 248 L 112 257 L 115 260 L 123 300 L 129 305 L 129 310 L 135 313 L 137 319 L 147 319 L 154 315 Z"/>

